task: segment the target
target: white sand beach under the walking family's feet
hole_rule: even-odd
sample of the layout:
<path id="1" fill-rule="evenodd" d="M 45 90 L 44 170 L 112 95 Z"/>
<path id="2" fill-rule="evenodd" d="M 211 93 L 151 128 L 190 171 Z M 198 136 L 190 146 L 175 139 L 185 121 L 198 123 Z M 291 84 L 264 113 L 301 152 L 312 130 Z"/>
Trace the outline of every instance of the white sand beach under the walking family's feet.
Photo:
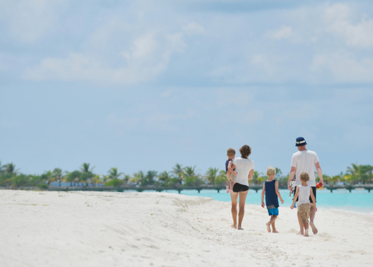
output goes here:
<path id="1" fill-rule="evenodd" d="M 0 191 L 1 267 L 372 266 L 373 218 L 320 209 L 317 235 L 280 207 L 246 205 L 244 231 L 230 203 L 169 193 Z"/>

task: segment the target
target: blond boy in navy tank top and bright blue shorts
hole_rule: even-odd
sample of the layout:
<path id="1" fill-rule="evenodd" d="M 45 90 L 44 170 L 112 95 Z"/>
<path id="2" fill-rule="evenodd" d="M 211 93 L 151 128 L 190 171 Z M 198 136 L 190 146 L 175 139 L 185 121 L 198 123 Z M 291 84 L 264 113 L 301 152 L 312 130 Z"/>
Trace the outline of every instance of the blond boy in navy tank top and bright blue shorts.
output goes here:
<path id="1" fill-rule="evenodd" d="M 275 220 L 277 216 L 279 216 L 279 199 L 281 200 L 281 204 L 283 204 L 283 199 L 281 197 L 279 191 L 279 181 L 275 180 L 276 169 L 274 167 L 267 168 L 267 176 L 268 180 L 263 183 L 263 190 L 262 190 L 262 207 L 264 208 L 264 195 L 266 195 L 266 205 L 268 209 L 268 215 L 271 216 L 271 220 L 266 223 L 268 232 L 271 233 L 271 225 L 272 225 L 272 233 L 279 233 L 275 227 Z"/>

